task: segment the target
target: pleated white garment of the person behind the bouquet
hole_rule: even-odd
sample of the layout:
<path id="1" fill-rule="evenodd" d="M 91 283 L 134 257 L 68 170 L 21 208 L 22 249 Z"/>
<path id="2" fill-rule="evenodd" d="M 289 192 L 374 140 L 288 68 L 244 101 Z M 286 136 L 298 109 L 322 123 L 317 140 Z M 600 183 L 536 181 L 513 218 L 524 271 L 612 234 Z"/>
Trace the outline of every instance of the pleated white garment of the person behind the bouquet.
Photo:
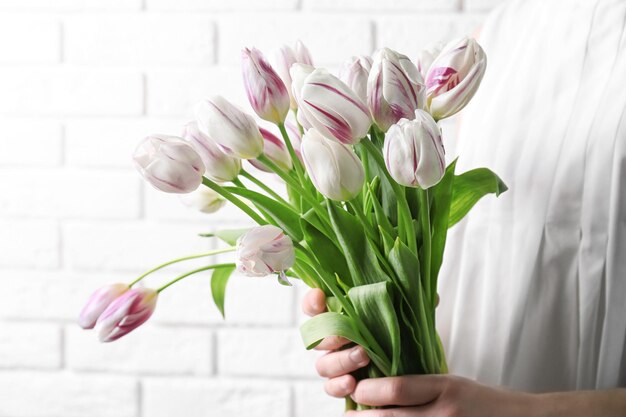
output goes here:
<path id="1" fill-rule="evenodd" d="M 626 0 L 517 0 L 488 18 L 457 171 L 489 167 L 510 189 L 450 229 L 437 319 L 452 373 L 626 386 L 625 27 Z"/>

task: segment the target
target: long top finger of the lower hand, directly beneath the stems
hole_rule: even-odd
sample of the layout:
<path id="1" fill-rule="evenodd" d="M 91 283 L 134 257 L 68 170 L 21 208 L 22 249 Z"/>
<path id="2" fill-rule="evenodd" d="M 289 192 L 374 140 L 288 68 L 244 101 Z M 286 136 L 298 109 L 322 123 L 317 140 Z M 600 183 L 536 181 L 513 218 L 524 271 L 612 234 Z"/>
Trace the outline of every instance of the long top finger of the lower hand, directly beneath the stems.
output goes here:
<path id="1" fill-rule="evenodd" d="M 445 375 L 370 378 L 357 384 L 352 397 L 372 406 L 423 405 L 437 399 L 444 387 Z"/>

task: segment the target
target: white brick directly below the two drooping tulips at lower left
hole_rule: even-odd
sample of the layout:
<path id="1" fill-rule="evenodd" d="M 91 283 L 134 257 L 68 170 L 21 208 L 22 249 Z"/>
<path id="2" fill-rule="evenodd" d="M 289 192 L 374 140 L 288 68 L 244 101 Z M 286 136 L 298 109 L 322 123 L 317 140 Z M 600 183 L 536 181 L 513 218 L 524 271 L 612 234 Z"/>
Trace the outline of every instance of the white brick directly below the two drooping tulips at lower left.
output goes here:
<path id="1" fill-rule="evenodd" d="M 152 322 L 117 340 L 99 343 L 94 331 L 66 329 L 66 364 L 79 371 L 208 375 L 213 369 L 207 329 L 164 328 Z"/>

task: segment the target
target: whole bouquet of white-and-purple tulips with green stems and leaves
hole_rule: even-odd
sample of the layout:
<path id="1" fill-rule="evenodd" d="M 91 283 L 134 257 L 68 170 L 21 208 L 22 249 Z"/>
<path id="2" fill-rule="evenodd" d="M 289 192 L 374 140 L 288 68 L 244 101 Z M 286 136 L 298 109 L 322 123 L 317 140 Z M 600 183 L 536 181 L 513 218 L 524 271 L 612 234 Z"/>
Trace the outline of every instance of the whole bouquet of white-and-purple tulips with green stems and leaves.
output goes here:
<path id="1" fill-rule="evenodd" d="M 242 65 L 252 108 L 282 139 L 217 96 L 197 105 L 182 137 L 149 136 L 134 160 L 157 189 L 188 194 L 205 212 L 228 201 L 258 226 L 206 234 L 229 246 L 96 291 L 81 326 L 116 340 L 150 317 L 161 291 L 207 270 L 223 314 L 234 270 L 276 274 L 327 295 L 328 312 L 301 327 L 307 348 L 347 338 L 367 351 L 370 377 L 446 372 L 435 306 L 447 230 L 484 195 L 506 190 L 488 169 L 456 175 L 455 162 L 446 167 L 438 125 L 476 92 L 482 48 L 461 39 L 424 51 L 418 65 L 383 48 L 351 58 L 337 77 L 315 68 L 299 42 L 281 50 L 276 70 L 256 49 L 243 51 Z M 286 196 L 242 169 L 244 159 L 280 177 Z M 135 287 L 175 262 L 228 251 L 235 262 L 207 263 L 156 290 Z"/>

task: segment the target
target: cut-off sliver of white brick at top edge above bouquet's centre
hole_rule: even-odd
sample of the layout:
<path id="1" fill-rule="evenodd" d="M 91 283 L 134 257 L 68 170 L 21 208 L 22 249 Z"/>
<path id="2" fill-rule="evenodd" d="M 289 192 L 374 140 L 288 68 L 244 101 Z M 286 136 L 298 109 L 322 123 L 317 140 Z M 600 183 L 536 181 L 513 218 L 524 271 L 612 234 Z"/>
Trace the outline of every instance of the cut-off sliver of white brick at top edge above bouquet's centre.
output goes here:
<path id="1" fill-rule="evenodd" d="M 377 12 L 424 12 L 454 11 L 460 0 L 303 0 L 304 10 L 315 11 L 377 11 Z"/>

